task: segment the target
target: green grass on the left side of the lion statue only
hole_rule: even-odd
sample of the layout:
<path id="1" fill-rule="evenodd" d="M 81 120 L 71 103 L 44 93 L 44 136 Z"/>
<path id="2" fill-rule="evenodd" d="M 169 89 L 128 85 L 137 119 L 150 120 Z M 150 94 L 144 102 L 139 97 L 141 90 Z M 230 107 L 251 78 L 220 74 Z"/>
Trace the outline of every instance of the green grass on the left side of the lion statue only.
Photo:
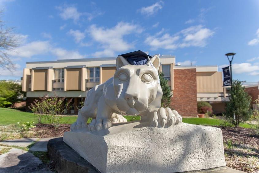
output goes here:
<path id="1" fill-rule="evenodd" d="M 72 124 L 76 121 L 76 116 L 64 116 L 62 124 Z M 0 108 L 0 124 L 17 124 L 17 122 L 34 121 L 37 123 L 37 116 L 30 112 L 22 112 L 10 108 Z M 49 123 L 47 120 L 42 120 L 42 123 Z"/>

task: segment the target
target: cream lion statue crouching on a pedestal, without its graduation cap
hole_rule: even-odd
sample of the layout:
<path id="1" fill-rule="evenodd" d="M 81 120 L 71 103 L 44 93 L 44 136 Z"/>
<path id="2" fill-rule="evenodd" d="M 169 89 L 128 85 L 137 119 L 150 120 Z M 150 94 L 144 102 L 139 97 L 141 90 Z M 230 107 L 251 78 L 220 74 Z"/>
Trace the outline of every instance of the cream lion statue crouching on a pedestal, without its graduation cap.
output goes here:
<path id="1" fill-rule="evenodd" d="M 161 108 L 159 67 L 160 58 L 157 55 L 148 57 L 145 65 L 131 65 L 119 55 L 114 76 L 87 92 L 84 106 L 78 112 L 76 122 L 71 125 L 71 131 L 86 128 L 89 117 L 93 118 L 88 125 L 90 131 L 107 129 L 112 123 L 127 121 L 122 115 L 139 115 L 141 121 L 149 121 L 155 127 L 181 123 L 182 117 L 177 111 Z"/>

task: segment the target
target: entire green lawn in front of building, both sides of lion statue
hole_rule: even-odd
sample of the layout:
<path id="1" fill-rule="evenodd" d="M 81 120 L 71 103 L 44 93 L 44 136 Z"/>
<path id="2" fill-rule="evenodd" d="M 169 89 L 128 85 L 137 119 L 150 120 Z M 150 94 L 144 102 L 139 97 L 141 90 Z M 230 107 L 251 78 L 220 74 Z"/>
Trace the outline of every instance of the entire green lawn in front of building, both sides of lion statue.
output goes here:
<path id="1" fill-rule="evenodd" d="M 128 121 L 140 120 L 140 116 L 124 116 Z M 62 124 L 72 124 L 76 121 L 76 116 L 64 116 Z M 37 122 L 37 116 L 30 112 L 22 112 L 10 108 L 0 108 L 0 124 L 16 124 L 17 122 Z M 183 118 L 184 123 L 209 125 L 209 126 L 220 126 L 223 120 L 212 119 L 212 118 Z M 47 120 L 42 120 L 42 123 L 48 124 Z M 240 124 L 240 127 L 249 128 L 248 124 Z"/>

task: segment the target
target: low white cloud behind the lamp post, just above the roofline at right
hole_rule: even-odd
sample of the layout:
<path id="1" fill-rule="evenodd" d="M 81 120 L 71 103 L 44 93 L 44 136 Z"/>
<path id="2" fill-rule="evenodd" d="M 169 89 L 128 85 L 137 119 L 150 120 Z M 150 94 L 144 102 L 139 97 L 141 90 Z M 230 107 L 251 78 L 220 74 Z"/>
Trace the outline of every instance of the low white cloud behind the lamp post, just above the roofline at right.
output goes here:
<path id="1" fill-rule="evenodd" d="M 227 64 L 224 64 L 224 65 L 220 65 L 219 68 L 223 68 L 223 67 L 227 67 L 229 65 Z M 236 73 L 236 74 L 240 74 L 240 73 L 250 73 L 251 72 L 256 72 L 257 70 L 259 70 L 259 65 L 252 65 L 250 63 L 234 63 L 232 64 L 232 70 L 233 70 L 233 73 Z"/>

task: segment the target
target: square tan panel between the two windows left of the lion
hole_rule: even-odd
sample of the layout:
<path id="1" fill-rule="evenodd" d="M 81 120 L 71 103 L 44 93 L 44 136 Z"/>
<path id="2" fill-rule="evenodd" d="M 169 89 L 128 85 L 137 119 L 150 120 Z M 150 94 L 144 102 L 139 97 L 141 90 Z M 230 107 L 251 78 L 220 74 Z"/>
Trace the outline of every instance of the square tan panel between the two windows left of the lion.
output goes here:
<path id="1" fill-rule="evenodd" d="M 82 69 L 67 69 L 67 90 L 81 90 Z"/>

